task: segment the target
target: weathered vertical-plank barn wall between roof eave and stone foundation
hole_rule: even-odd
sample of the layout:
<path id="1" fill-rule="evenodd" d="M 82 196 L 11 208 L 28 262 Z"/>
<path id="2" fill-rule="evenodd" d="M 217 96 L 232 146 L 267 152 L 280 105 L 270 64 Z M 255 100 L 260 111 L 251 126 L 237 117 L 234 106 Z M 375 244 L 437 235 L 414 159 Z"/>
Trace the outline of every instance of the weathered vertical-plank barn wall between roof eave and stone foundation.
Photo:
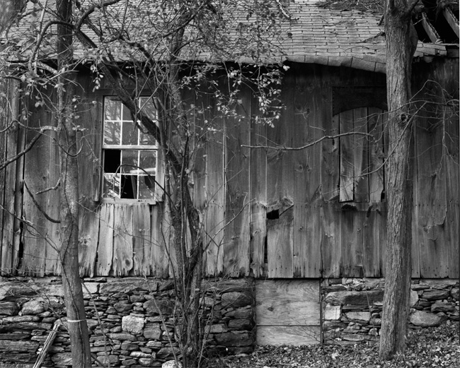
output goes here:
<path id="1" fill-rule="evenodd" d="M 415 90 L 420 81 L 436 78 L 458 98 L 458 59 L 420 63 L 414 74 Z M 81 273 L 167 277 L 174 267 L 168 248 L 173 235 L 163 203 L 98 202 L 101 102 L 110 91 L 91 92 L 88 80 L 81 83 L 87 91 L 80 112 Z M 255 122 L 258 104 L 250 90 L 241 95 L 241 119 L 219 118 L 214 96 L 187 92 L 189 106 L 203 107 L 190 115 L 197 130 L 213 117 L 222 126 L 204 133 L 205 144 L 196 143 L 190 184 L 206 225 L 208 275 L 384 275 L 386 202 L 379 168 L 388 154 L 384 84 L 379 73 L 293 64 L 282 85 L 285 109 L 274 127 Z M 439 88 L 430 88 L 423 98 L 440 102 Z M 454 114 L 454 107 L 441 103 L 423 107 L 414 135 L 413 276 L 458 278 L 458 110 Z M 30 126 L 52 124 L 48 109 L 31 105 L 30 112 Z M 346 135 L 350 131 L 363 135 Z M 26 131 L 25 144 L 35 134 Z M 37 194 L 57 184 L 53 134 L 47 132 L 25 155 L 24 182 L 56 218 L 57 191 Z M 246 147 L 299 147 L 338 134 L 344 135 L 304 150 Z M 23 193 L 21 243 L 16 252 L 5 249 L 13 242 L 5 235 L 14 236 L 11 215 L 5 215 L 2 254 L 11 256 L 2 256 L 1 266 L 23 275 L 57 273 L 57 224 L 45 220 L 28 191 Z"/>

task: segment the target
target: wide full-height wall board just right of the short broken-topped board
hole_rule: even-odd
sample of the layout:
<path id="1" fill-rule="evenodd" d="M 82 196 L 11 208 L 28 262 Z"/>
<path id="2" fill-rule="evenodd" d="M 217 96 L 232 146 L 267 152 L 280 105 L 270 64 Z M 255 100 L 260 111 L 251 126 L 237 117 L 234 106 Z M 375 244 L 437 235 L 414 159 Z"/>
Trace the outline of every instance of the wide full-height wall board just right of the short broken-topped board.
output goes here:
<path id="1" fill-rule="evenodd" d="M 293 146 L 317 141 L 322 135 L 323 106 L 318 69 L 297 73 L 294 94 Z M 295 151 L 294 162 L 294 277 L 321 275 L 321 143 Z"/>

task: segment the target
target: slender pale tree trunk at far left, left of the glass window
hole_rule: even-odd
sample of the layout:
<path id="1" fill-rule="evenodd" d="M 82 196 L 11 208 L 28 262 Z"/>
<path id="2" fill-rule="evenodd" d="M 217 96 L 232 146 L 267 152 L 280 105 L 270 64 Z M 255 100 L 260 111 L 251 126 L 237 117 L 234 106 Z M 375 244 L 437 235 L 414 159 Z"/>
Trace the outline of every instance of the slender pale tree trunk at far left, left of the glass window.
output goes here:
<path id="1" fill-rule="evenodd" d="M 58 18 L 70 22 L 71 0 L 57 0 Z M 73 35 L 66 25 L 57 26 L 57 61 L 61 73 L 57 88 L 59 161 L 61 167 L 61 249 L 62 285 L 67 309 L 71 344 L 72 367 L 91 367 L 88 325 L 84 308 L 83 290 L 79 274 L 79 180 L 77 164 L 76 124 L 74 124 L 76 96 L 75 73 L 69 71 L 74 55 L 71 49 Z"/>

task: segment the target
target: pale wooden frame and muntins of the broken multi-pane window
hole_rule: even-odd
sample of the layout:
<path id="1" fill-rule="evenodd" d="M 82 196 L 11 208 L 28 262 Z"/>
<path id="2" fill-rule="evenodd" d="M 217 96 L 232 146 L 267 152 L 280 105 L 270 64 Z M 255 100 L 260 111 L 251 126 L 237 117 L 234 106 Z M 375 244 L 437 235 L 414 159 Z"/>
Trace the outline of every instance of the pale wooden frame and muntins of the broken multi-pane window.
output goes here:
<path id="1" fill-rule="evenodd" d="M 144 102 L 143 100 L 144 99 L 149 99 L 151 98 L 150 95 L 141 95 L 139 96 L 139 109 L 142 108 Z M 107 101 L 108 100 L 114 100 L 114 101 L 117 101 L 117 102 L 120 102 L 120 112 L 119 112 L 119 116 L 117 118 L 119 119 L 106 119 L 106 106 L 108 105 L 107 104 Z M 145 100 L 144 100 L 145 101 Z M 142 144 L 139 144 L 140 143 L 140 139 L 142 138 L 142 134 L 145 134 L 143 133 L 139 127 L 137 126 L 137 124 L 134 123 L 134 121 L 132 119 L 125 119 L 125 117 L 123 116 L 124 114 L 124 109 L 127 109 L 127 107 L 125 107 L 125 105 L 122 104 L 122 102 L 120 101 L 120 98 L 118 98 L 116 95 L 111 95 L 111 94 L 107 94 L 107 95 L 103 95 L 102 97 L 102 135 L 101 135 L 101 174 L 100 174 L 100 201 L 103 202 L 103 203 L 138 203 L 138 202 L 144 202 L 144 203 L 149 203 L 149 205 L 155 205 L 157 202 L 161 201 L 161 196 L 162 196 L 162 191 L 161 191 L 161 188 L 159 187 L 159 177 L 161 175 L 160 171 L 161 171 L 161 160 L 160 160 L 160 154 L 161 154 L 161 150 L 159 149 L 159 146 L 158 146 L 158 142 L 155 140 L 155 143 L 154 145 L 142 145 Z M 128 113 L 129 110 L 128 110 Z M 155 111 L 155 114 L 156 114 L 156 121 L 158 121 L 158 111 Z M 105 126 L 106 126 L 106 122 L 107 121 L 110 121 L 110 122 L 113 122 L 113 123 L 120 123 L 121 126 L 120 126 L 120 137 L 119 137 L 119 140 L 120 140 L 120 144 L 105 144 Z M 134 127 L 135 127 L 135 130 L 137 131 L 137 145 L 129 145 L 129 144 L 122 144 L 122 140 L 123 140 L 123 137 L 122 137 L 122 129 L 123 129 L 123 123 L 134 123 Z M 154 139 L 154 138 L 153 138 Z M 122 170 L 120 170 L 120 168 L 122 167 L 122 165 L 118 166 L 117 167 L 117 170 L 116 172 L 105 172 L 105 155 L 106 153 L 108 152 L 108 150 L 119 150 L 120 151 L 120 160 L 122 160 L 122 153 L 123 152 L 126 152 L 126 151 L 136 151 L 137 152 L 137 160 L 139 160 L 139 153 L 142 152 L 142 151 L 152 151 L 152 152 L 155 152 L 156 153 L 156 158 L 154 159 L 155 160 L 155 175 L 154 175 L 154 180 L 155 180 L 155 183 L 154 183 L 154 189 L 153 189 L 153 196 L 151 198 L 117 198 L 117 197 L 108 197 L 108 196 L 105 196 L 105 190 L 104 190 L 104 187 L 105 187 L 105 174 L 119 174 L 120 177 L 124 174 L 124 172 Z M 139 163 L 139 162 L 138 162 Z M 121 162 L 120 162 L 121 164 Z M 147 175 L 139 175 L 139 168 L 136 168 L 135 170 L 137 170 L 137 174 L 132 174 L 131 176 L 132 177 L 136 177 L 136 190 L 137 190 L 137 193 L 135 194 L 136 197 L 139 196 L 139 179 L 140 177 L 143 177 L 143 176 L 147 176 Z M 130 174 L 126 174 L 127 176 L 130 175 Z M 120 180 L 120 191 L 121 191 L 121 180 Z M 121 195 L 121 194 L 120 194 Z"/>

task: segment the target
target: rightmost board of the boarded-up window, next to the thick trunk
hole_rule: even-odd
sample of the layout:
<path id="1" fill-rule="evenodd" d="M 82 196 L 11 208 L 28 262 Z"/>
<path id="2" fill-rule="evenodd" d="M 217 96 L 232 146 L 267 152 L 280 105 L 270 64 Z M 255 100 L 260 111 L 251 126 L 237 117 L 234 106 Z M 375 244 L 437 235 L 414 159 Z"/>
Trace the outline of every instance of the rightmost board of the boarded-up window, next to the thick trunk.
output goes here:
<path id="1" fill-rule="evenodd" d="M 384 111 L 369 107 L 369 201 L 380 202 L 384 191 Z"/>

